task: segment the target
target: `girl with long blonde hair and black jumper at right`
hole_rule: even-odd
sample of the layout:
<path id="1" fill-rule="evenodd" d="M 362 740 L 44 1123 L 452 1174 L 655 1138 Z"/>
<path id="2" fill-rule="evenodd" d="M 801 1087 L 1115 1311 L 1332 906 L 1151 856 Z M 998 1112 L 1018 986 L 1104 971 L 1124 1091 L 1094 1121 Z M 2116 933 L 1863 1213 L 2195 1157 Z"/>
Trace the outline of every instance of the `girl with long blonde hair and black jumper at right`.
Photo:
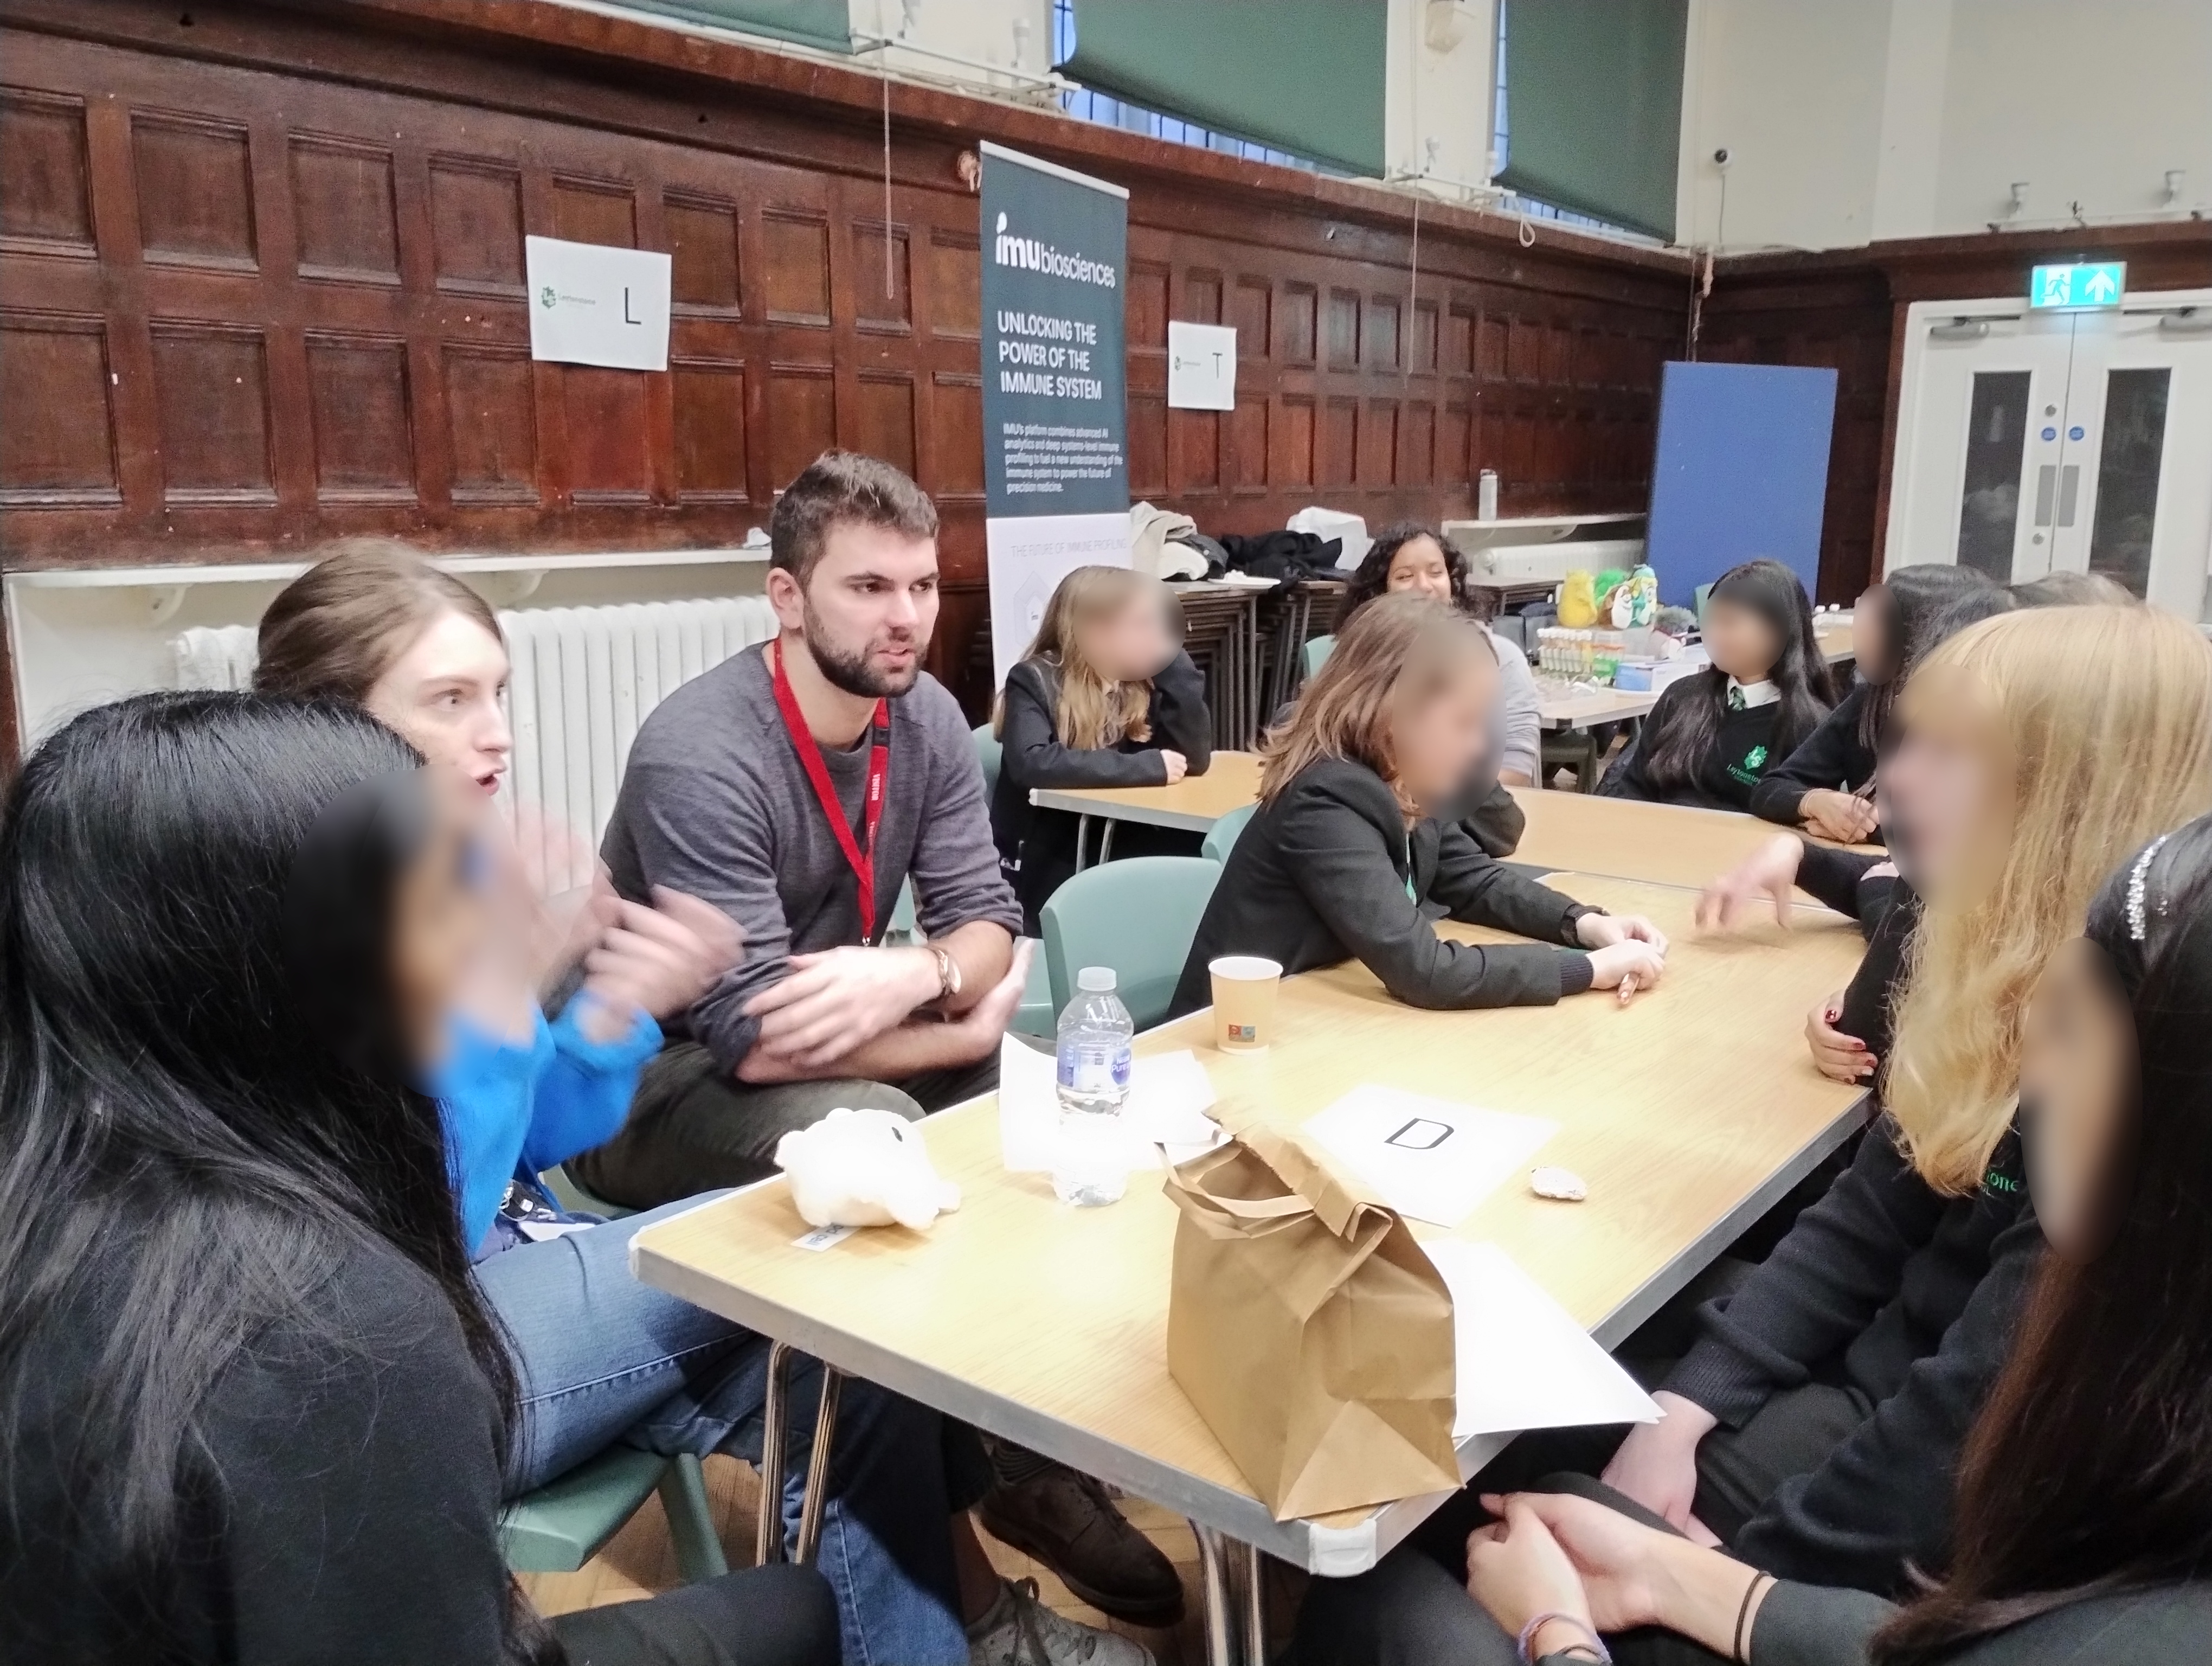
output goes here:
<path id="1" fill-rule="evenodd" d="M 1882 766 L 1922 896 L 1887 1115 L 1730 1299 L 1606 1482 L 1783 1578 L 1893 1595 L 1949 1555 L 1960 1440 L 2042 1252 L 2013 1111 L 2028 991 L 2104 876 L 2212 808 L 2212 646 L 2152 608 L 1984 619 L 1916 670 Z M 1765 861 L 1763 861 L 1765 858 Z M 1787 896 L 1770 854 L 1714 887 Z"/>

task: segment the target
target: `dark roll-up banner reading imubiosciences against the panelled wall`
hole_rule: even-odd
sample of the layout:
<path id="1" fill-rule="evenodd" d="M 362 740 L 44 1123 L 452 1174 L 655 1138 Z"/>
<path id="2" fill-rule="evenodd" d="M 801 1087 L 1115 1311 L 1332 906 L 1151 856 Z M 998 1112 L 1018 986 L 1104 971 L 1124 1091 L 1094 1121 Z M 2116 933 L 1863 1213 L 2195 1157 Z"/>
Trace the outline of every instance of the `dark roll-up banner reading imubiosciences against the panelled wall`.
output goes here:
<path id="1" fill-rule="evenodd" d="M 982 144 L 982 454 L 993 681 L 1077 566 L 1128 566 L 1128 192 Z"/>

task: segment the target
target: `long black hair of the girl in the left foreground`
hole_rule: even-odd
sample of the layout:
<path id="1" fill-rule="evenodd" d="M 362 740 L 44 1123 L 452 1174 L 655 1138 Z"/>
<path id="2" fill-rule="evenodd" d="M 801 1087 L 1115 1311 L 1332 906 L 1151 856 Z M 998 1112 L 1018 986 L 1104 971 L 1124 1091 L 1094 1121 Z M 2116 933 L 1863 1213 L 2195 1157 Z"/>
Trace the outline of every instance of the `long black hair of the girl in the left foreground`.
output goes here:
<path id="1" fill-rule="evenodd" d="M 511 1416 L 438 1106 L 341 1058 L 285 954 L 316 819 L 418 763 L 349 706 L 142 695 L 40 746 L 0 812 L 0 1564 L 97 1569 L 148 1659 L 204 1553 L 208 1389 L 279 1321 L 343 1370 L 314 1292 L 352 1246 L 436 1283 Z M 80 1509 L 33 1522 L 20 1443 L 55 1358 L 86 1370 L 35 1460 Z"/>

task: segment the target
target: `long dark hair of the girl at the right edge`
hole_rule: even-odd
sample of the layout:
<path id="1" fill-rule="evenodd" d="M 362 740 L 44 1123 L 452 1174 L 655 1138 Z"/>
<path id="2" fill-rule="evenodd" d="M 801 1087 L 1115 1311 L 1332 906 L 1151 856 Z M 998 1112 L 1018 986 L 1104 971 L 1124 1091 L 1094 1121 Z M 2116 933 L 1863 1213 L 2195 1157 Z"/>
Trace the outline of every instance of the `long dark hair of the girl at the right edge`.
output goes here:
<path id="1" fill-rule="evenodd" d="M 2088 914 L 2135 1009 L 2135 1190 L 2097 1261 L 2044 1257 L 1966 1436 L 1949 1578 L 1880 1633 L 1882 1666 L 2212 1571 L 2212 816 L 2135 876 Z"/>

